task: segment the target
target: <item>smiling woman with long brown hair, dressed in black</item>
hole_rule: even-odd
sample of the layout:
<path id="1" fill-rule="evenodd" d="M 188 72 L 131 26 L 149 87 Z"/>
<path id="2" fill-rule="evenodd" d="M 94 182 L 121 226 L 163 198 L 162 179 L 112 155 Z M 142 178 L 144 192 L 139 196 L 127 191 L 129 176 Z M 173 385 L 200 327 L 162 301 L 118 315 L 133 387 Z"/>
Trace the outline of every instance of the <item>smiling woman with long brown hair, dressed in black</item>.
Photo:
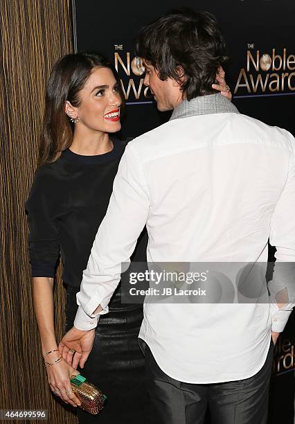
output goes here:
<path id="1" fill-rule="evenodd" d="M 222 71 L 223 72 L 223 71 Z M 226 93 L 224 78 L 219 77 Z M 230 94 L 226 93 L 227 96 Z M 40 166 L 26 203 L 33 303 L 48 382 L 70 405 L 80 405 L 71 390 L 71 355 L 57 349 L 53 326 L 53 279 L 59 254 L 66 285 L 66 327 L 73 326 L 82 271 L 104 218 L 125 143 L 120 130 L 123 94 L 116 71 L 97 53 L 61 58 L 46 91 Z M 109 135 L 111 134 L 111 135 Z M 134 260 L 145 261 L 146 236 Z M 142 319 L 138 305 L 122 305 L 120 288 L 100 318 L 92 351 L 82 375 L 109 398 L 98 416 L 78 409 L 80 423 L 143 423 L 147 396 L 144 361 L 137 335 Z"/>

